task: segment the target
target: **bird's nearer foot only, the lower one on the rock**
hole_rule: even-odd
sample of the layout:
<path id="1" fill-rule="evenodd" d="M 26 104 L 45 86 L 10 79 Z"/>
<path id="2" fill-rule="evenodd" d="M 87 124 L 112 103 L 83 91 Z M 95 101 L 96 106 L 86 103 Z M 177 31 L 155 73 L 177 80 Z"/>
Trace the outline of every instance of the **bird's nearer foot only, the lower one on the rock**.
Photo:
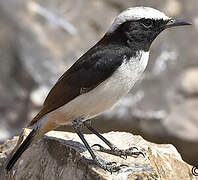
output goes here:
<path id="1" fill-rule="evenodd" d="M 96 164 L 100 168 L 104 169 L 105 171 L 109 171 L 111 174 L 113 172 L 118 172 L 119 170 L 121 170 L 122 167 L 128 167 L 125 164 L 121 164 L 121 165 L 117 166 L 116 162 L 107 162 L 99 157 L 96 157 L 93 160 L 93 162 L 94 162 L 94 164 Z"/>

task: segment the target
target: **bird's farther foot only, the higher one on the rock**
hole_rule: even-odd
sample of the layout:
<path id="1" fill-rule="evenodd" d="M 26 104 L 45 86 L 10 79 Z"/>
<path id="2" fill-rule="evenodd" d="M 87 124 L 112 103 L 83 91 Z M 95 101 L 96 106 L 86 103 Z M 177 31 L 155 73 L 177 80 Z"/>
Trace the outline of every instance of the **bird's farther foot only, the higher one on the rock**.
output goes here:
<path id="1" fill-rule="evenodd" d="M 120 156 L 124 159 L 127 159 L 127 156 L 138 157 L 139 155 L 142 155 L 143 157 L 145 157 L 144 153 L 139 151 L 137 147 L 131 147 L 124 150 L 119 149 L 115 146 L 111 147 L 111 149 L 107 149 L 101 146 L 100 144 L 94 144 L 92 147 L 98 147 L 99 148 L 97 149 L 98 151 Z"/>

